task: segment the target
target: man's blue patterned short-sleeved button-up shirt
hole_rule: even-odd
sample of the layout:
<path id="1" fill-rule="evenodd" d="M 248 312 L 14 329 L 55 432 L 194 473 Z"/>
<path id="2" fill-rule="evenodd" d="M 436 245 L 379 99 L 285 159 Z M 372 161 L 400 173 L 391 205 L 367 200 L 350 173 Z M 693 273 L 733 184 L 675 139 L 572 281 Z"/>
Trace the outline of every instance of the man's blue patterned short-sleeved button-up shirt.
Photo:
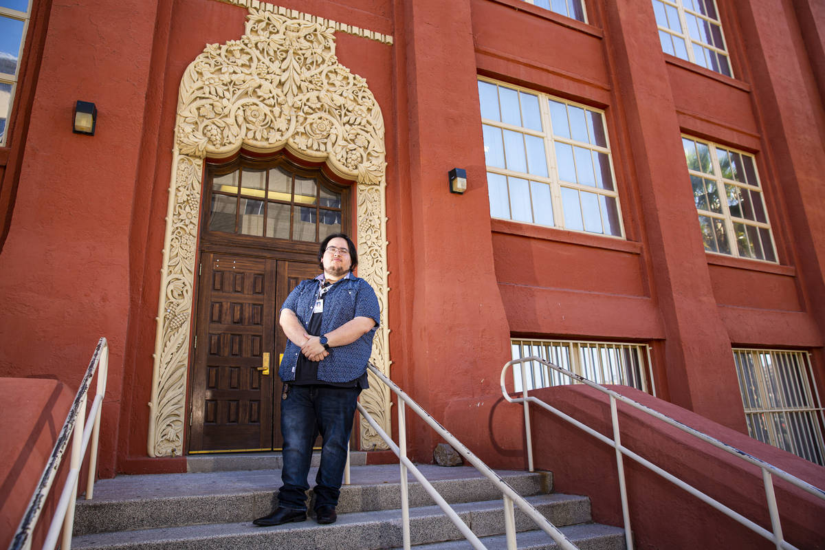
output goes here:
<path id="1" fill-rule="evenodd" d="M 302 280 L 281 306 L 281 311 L 291 309 L 304 329 L 309 327 L 309 319 L 312 318 L 312 311 L 318 299 L 322 281 L 323 275 L 310 280 Z M 380 323 L 378 299 L 369 283 L 350 272 L 342 280 L 329 287 L 323 299 L 321 334 L 314 336 L 334 331 L 356 317 L 369 317 L 375 321 L 375 327 L 347 346 L 331 348 L 326 359 L 318 362 L 319 380 L 325 382 L 355 380 L 364 374 L 366 364 L 372 355 L 372 339 Z M 278 369 L 278 375 L 284 382 L 295 380 L 295 365 L 298 364 L 300 352 L 299 346 L 292 341 L 286 342 L 284 359 L 281 360 L 281 367 Z"/>

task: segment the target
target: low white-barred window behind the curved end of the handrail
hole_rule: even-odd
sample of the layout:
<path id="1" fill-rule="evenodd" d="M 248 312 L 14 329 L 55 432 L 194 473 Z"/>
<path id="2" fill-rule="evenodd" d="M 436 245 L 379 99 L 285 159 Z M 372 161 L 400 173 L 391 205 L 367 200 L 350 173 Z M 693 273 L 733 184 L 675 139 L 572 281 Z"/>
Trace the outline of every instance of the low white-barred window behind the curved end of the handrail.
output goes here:
<path id="1" fill-rule="evenodd" d="M 512 340 L 512 358 L 521 359 L 534 355 L 553 364 L 603 384 L 622 384 L 656 395 L 653 384 L 653 367 L 650 350 L 643 344 L 627 342 L 562 341 L 562 340 Z M 647 360 L 648 372 L 644 364 Z M 543 364 L 526 364 L 514 367 L 516 392 L 521 392 L 521 369 L 527 371 L 527 389 L 549 388 L 567 383 L 577 383 Z M 517 371 L 517 372 L 516 372 Z M 648 379 L 649 376 L 649 384 Z"/>

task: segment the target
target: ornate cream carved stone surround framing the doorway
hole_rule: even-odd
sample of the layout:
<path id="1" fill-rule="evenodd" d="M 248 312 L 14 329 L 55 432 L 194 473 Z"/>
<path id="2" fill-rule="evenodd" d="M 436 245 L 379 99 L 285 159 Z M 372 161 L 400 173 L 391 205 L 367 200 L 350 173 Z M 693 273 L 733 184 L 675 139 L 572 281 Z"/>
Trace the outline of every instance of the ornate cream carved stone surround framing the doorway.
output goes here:
<path id="1" fill-rule="evenodd" d="M 252 2 L 252 7 L 249 2 Z M 384 119 L 364 78 L 338 63 L 333 32 L 391 37 L 257 0 L 238 40 L 207 45 L 181 79 L 158 303 L 148 454 L 183 454 L 200 192 L 205 157 L 287 148 L 356 182 L 358 274 L 375 288 L 381 327 L 373 363 L 389 376 Z M 389 390 L 373 380 L 361 403 L 390 431 Z M 361 446 L 386 448 L 361 420 Z"/>

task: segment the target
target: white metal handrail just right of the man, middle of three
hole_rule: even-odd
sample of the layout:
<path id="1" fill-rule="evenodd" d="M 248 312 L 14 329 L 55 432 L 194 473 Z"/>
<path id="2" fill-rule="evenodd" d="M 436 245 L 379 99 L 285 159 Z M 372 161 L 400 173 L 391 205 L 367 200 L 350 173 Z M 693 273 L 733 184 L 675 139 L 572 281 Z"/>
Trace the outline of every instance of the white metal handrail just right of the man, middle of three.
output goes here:
<path id="1" fill-rule="evenodd" d="M 427 491 L 427 493 L 432 497 L 436 504 L 441 507 L 441 510 L 444 510 L 444 513 L 450 520 L 455 524 L 455 526 L 461 531 L 461 534 L 464 535 L 464 538 L 467 538 L 470 544 L 472 544 L 473 548 L 486 548 L 483 543 L 479 540 L 479 538 L 469 529 L 467 524 L 455 513 L 455 510 L 447 504 L 447 501 L 436 491 L 435 487 L 432 487 L 432 484 L 427 480 L 427 477 L 424 477 L 424 474 L 416 468 L 415 464 L 407 457 L 407 423 L 405 420 L 405 404 L 408 405 L 413 412 L 415 412 L 418 416 L 421 416 L 422 420 L 427 422 L 428 425 L 433 430 L 436 430 L 438 435 L 446 440 L 450 445 L 453 446 L 455 450 L 457 450 L 467 461 L 484 476 L 487 477 L 490 482 L 493 482 L 493 485 L 497 487 L 499 491 L 502 491 L 502 498 L 504 501 L 504 523 L 505 523 L 505 532 L 507 534 L 507 548 L 508 550 L 515 550 L 516 548 L 516 516 L 515 511 L 513 510 L 513 504 L 515 503 L 524 512 L 530 519 L 535 521 L 535 524 L 539 526 L 544 533 L 549 534 L 553 540 L 559 544 L 560 548 L 564 550 L 577 550 L 577 547 L 570 542 L 570 540 L 564 536 L 564 534 L 556 527 L 554 524 L 550 523 L 543 515 L 539 512 L 539 510 L 535 509 L 535 506 L 531 505 L 527 502 L 521 495 L 519 495 L 512 487 L 510 487 L 507 482 L 502 480 L 501 477 L 498 476 L 496 472 L 493 472 L 490 467 L 483 463 L 482 460 L 473 454 L 472 451 L 467 449 L 459 440 L 455 438 L 454 435 L 450 434 L 449 431 L 446 430 L 444 426 L 439 424 L 430 414 L 425 411 L 417 402 L 413 400 L 412 397 L 409 397 L 407 393 L 398 386 L 389 378 L 387 378 L 384 373 L 382 373 L 379 369 L 376 369 L 374 365 L 368 365 L 368 369 L 375 374 L 376 377 L 380 379 L 381 382 L 387 385 L 389 389 L 391 389 L 395 395 L 398 396 L 398 445 L 395 444 L 392 438 L 387 435 L 387 433 L 381 429 L 378 422 L 370 415 L 369 412 L 365 410 L 364 407 L 361 407 L 361 403 L 357 404 L 358 411 L 361 412 L 361 415 L 364 416 L 365 420 L 370 423 L 373 429 L 380 435 L 381 439 L 384 440 L 386 444 L 389 445 L 389 448 L 395 453 L 395 455 L 400 460 L 401 466 L 401 510 L 402 510 L 402 520 L 403 520 L 403 547 L 408 550 L 410 548 L 410 524 L 409 524 L 409 499 L 408 499 L 408 482 L 407 482 L 407 470 L 411 470 L 413 472 L 413 476 L 421 482 L 422 487 Z M 347 471 L 345 472 L 346 482 L 349 482 L 349 460 L 347 460 Z"/>

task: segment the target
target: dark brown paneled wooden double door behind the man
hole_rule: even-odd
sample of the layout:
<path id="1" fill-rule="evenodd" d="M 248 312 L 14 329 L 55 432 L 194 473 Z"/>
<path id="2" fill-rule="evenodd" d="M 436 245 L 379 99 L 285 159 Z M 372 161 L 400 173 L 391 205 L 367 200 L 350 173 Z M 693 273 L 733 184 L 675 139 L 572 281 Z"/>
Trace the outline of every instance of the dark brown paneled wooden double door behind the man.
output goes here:
<path id="1" fill-rule="evenodd" d="M 286 336 L 277 315 L 290 291 L 318 272 L 316 262 L 201 253 L 191 453 L 281 449 Z"/>

